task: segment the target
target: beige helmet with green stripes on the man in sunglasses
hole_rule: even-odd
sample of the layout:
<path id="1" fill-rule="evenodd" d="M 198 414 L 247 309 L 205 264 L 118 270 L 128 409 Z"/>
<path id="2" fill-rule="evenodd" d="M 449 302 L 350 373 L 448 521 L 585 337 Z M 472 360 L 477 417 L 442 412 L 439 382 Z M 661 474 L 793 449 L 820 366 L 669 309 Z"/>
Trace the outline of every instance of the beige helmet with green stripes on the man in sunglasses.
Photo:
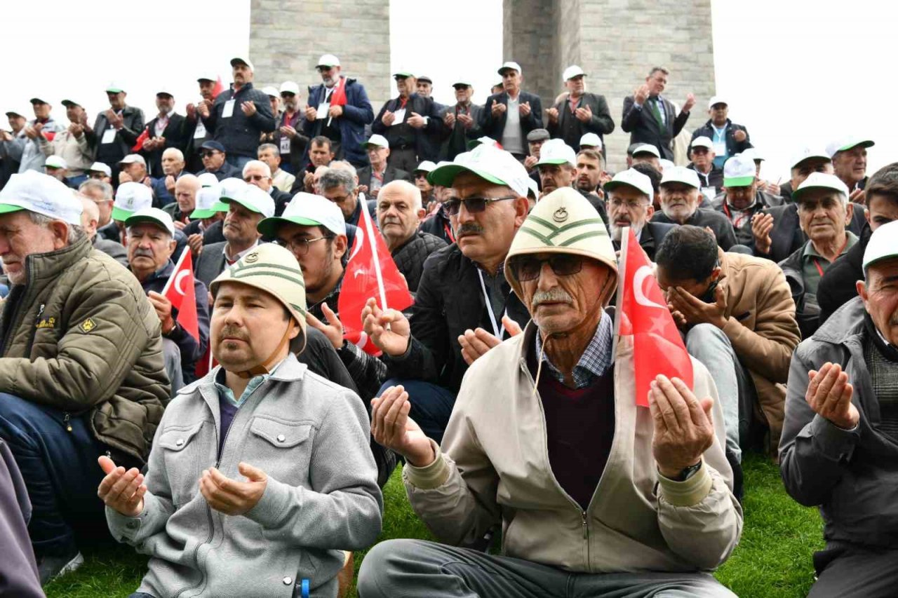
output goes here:
<path id="1" fill-rule="evenodd" d="M 645 175 L 643 175 L 645 176 Z M 592 258 L 607 266 L 617 277 L 617 256 L 608 229 L 589 200 L 577 189 L 555 189 L 533 207 L 524 224 L 515 234 L 506 257 L 506 279 L 518 297 L 521 284 L 508 263 L 515 256 L 527 253 L 569 253 Z M 609 289 L 603 303 L 613 295 Z"/>

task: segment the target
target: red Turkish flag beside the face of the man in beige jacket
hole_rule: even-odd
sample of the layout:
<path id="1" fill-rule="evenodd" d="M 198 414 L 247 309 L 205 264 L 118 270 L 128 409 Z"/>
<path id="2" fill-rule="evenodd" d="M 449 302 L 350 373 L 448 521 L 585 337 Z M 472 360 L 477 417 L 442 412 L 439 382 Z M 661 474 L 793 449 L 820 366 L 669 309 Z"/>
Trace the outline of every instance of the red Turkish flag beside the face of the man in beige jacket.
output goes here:
<path id="1" fill-rule="evenodd" d="M 648 407 L 649 384 L 658 374 L 680 378 L 692 388 L 692 362 L 652 262 L 629 227 L 623 232 L 620 264 L 618 333 L 633 337 L 636 404 Z"/>

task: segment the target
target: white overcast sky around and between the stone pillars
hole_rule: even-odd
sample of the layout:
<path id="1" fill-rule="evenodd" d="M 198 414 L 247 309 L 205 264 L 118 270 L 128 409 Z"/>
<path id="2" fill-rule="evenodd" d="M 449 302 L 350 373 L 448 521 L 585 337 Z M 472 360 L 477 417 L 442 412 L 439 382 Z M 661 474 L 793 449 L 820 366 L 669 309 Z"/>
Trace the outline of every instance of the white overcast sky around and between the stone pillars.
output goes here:
<path id="1" fill-rule="evenodd" d="M 197 97 L 198 71 L 227 75 L 229 58 L 249 48 L 249 0 L 155 0 L 143 11 L 133 5 L 45 0 L 36 21 L 35 4 L 4 3 L 0 53 L 9 59 L 0 109 L 23 110 L 34 95 L 48 95 L 54 116 L 65 121 L 59 101 L 71 95 L 93 117 L 108 106 L 103 89 L 119 79 L 129 103 L 147 118 L 161 84 L 172 89 L 183 113 L 183 104 Z M 712 0 L 712 9 L 718 94 L 726 95 L 730 116 L 748 127 L 767 158 L 763 176 L 788 178 L 788 158 L 803 140 L 825 145 L 845 134 L 876 141 L 871 174 L 898 158 L 891 111 L 871 110 L 898 91 L 891 64 L 894 4 Z M 157 15 L 164 15 L 162 27 L 154 26 Z M 440 82 L 466 73 L 475 101 L 484 101 L 503 58 L 501 19 L 501 0 L 392 0 L 392 70 L 408 68 Z M 451 89 L 440 86 L 436 100 L 452 102 Z M 688 128 L 707 119 L 704 108 L 693 110 Z"/>

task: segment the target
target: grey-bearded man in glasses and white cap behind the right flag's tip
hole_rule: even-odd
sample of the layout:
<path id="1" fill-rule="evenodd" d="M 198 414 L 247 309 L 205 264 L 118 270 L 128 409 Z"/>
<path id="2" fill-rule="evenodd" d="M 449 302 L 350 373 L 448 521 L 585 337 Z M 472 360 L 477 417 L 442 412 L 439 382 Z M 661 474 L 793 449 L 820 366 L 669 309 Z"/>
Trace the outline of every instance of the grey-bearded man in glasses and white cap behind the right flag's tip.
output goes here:
<path id="1" fill-rule="evenodd" d="M 651 222 L 655 214 L 652 180 L 630 168 L 615 174 L 612 180 L 604 184 L 604 191 L 608 198 L 608 224 L 614 251 L 621 251 L 623 229 L 629 226 L 648 259 L 654 261 L 655 250 L 665 235 L 676 228 L 676 224 Z"/>

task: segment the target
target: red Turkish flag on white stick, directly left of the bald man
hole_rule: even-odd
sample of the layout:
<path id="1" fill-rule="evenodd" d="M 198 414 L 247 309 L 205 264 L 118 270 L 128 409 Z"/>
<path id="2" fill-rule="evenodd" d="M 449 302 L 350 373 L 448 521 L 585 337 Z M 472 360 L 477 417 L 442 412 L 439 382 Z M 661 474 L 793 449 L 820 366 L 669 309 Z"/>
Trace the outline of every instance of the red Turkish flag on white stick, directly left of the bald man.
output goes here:
<path id="1" fill-rule="evenodd" d="M 363 198 L 358 198 L 364 201 Z M 378 356 L 381 350 L 362 329 L 362 309 L 369 297 L 376 297 L 382 310 L 404 310 L 414 303 L 409 285 L 396 268 L 380 231 L 374 228 L 371 215 L 362 206 L 362 218 L 352 243 L 337 308 L 343 323 L 343 338 L 365 353 Z"/>

